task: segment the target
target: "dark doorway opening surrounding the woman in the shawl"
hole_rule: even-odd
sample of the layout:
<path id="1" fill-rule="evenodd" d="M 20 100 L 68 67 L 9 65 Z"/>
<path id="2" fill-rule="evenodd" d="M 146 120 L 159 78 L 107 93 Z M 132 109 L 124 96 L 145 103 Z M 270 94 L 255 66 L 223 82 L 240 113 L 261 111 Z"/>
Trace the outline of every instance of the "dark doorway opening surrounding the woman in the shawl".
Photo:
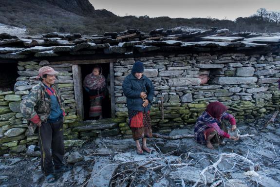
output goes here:
<path id="1" fill-rule="evenodd" d="M 92 73 L 93 68 L 95 66 L 100 66 L 102 68 L 102 75 L 105 76 L 106 79 L 106 89 L 104 92 L 105 98 L 102 99 L 102 116 L 103 118 L 111 118 L 111 99 L 110 99 L 110 63 L 102 63 L 102 64 L 85 64 L 81 66 L 81 73 L 82 73 L 82 82 L 84 81 L 86 75 Z M 91 120 L 89 111 L 90 111 L 90 95 L 85 90 L 83 86 L 83 104 L 84 104 L 84 120 Z M 98 119 L 98 117 L 96 118 Z"/>

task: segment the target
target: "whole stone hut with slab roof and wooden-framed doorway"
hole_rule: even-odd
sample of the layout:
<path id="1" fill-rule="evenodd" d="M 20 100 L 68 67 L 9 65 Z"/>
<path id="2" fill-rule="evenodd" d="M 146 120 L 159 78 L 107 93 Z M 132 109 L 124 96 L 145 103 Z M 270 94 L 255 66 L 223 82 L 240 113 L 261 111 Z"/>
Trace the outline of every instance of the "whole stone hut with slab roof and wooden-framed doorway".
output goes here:
<path id="1" fill-rule="evenodd" d="M 140 60 L 155 86 L 151 109 L 154 131 L 193 125 L 208 102 L 221 101 L 238 120 L 253 121 L 279 108 L 280 36 L 230 33 L 227 29 L 127 30 L 103 36 L 45 34 L 18 38 L 0 34 L 0 154 L 37 144 L 19 103 L 38 83 L 42 66 L 60 72 L 66 146 L 96 136 L 131 136 L 122 82 Z M 88 120 L 83 78 L 103 68 L 108 96 L 103 120 Z"/>

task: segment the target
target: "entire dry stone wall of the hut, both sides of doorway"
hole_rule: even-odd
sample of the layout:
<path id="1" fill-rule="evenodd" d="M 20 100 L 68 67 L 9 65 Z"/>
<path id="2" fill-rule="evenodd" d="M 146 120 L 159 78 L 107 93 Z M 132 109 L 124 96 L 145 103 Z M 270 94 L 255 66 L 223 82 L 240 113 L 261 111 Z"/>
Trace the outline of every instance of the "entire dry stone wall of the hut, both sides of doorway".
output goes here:
<path id="1" fill-rule="evenodd" d="M 59 72 L 56 84 L 65 99 L 64 138 L 66 146 L 76 146 L 94 136 L 122 134 L 131 136 L 128 126 L 126 97 L 122 83 L 131 73 L 135 61 L 145 65 L 144 74 L 155 86 L 151 108 L 154 130 L 169 132 L 195 123 L 208 102 L 221 101 L 237 120 L 254 121 L 255 117 L 279 108 L 280 54 L 245 55 L 208 53 L 140 58 L 119 58 L 114 63 L 114 94 L 116 118 L 102 122 L 81 123 L 76 115 L 72 64 L 50 65 L 48 61 L 19 62 L 15 90 L 0 92 L 0 154 L 22 152 L 37 144 L 37 134 L 30 135 L 27 121 L 20 113 L 20 101 L 26 97 L 42 66 Z M 209 80 L 201 84 L 200 75 Z M 164 99 L 164 120 L 160 98 Z M 106 122 L 107 124 L 104 124 Z M 84 127 L 83 127 L 84 126 Z M 120 132 L 120 133 L 119 133 Z"/>

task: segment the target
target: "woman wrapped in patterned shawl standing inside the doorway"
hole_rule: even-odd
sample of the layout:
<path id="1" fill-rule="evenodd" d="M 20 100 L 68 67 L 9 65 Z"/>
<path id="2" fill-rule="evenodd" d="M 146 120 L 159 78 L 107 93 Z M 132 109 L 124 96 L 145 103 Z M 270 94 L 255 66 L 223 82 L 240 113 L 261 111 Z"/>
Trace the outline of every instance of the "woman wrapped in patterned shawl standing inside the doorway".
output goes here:
<path id="1" fill-rule="evenodd" d="M 100 66 L 94 66 L 92 73 L 85 77 L 84 87 L 90 95 L 89 117 L 102 119 L 102 99 L 105 97 L 106 79 Z"/>

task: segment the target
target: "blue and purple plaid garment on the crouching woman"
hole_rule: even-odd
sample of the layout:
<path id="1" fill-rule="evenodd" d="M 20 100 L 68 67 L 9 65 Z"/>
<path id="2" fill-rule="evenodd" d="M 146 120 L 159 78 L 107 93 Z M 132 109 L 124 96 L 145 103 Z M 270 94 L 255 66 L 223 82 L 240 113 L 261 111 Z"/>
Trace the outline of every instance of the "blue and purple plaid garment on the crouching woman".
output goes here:
<path id="1" fill-rule="evenodd" d="M 194 127 L 194 139 L 196 142 L 205 144 L 205 134 L 204 131 L 208 128 L 214 128 L 217 132 L 218 135 L 224 136 L 229 138 L 229 134 L 224 132 L 221 127 L 221 121 L 222 120 L 228 120 L 231 125 L 235 125 L 235 118 L 233 115 L 224 112 L 222 114 L 222 117 L 220 120 L 210 116 L 207 112 L 203 112 L 201 116 L 196 121 L 195 127 Z"/>

